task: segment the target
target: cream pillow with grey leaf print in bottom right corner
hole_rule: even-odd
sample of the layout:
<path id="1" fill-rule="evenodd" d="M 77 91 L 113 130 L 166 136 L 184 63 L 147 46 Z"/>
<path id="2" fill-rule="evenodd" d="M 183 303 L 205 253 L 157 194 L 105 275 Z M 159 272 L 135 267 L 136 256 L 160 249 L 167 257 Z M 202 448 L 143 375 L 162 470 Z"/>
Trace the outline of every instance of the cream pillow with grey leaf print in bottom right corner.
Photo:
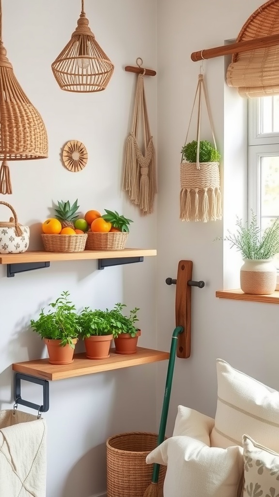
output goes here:
<path id="1" fill-rule="evenodd" d="M 244 497 L 279 497 L 279 454 L 243 435 Z"/>

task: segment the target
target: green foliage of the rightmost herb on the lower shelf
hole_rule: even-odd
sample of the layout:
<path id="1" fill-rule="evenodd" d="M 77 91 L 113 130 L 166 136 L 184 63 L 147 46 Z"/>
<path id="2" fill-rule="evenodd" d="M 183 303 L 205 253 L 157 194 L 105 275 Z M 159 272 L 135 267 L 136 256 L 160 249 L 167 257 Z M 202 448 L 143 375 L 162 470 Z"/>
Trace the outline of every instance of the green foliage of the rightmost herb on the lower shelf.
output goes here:
<path id="1" fill-rule="evenodd" d="M 135 323 L 139 321 L 137 317 L 139 308 L 135 307 L 130 311 L 129 316 L 125 316 L 123 314 L 123 309 L 125 307 L 127 307 L 126 304 L 118 302 L 111 311 L 108 311 L 110 329 L 114 338 L 117 338 L 121 333 L 130 333 L 131 336 L 134 337 L 139 331 L 135 326 Z"/>

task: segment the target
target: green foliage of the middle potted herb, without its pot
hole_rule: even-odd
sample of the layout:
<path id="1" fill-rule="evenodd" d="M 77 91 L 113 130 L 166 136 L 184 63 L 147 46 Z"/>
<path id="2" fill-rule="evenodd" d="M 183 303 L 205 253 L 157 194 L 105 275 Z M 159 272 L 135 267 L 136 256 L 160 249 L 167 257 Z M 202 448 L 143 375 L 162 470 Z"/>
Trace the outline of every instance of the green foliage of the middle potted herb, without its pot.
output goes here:
<path id="1" fill-rule="evenodd" d="M 78 317 L 80 326 L 80 336 L 89 338 L 89 336 L 103 336 L 112 334 L 109 311 L 101 311 L 100 309 L 82 309 Z"/>

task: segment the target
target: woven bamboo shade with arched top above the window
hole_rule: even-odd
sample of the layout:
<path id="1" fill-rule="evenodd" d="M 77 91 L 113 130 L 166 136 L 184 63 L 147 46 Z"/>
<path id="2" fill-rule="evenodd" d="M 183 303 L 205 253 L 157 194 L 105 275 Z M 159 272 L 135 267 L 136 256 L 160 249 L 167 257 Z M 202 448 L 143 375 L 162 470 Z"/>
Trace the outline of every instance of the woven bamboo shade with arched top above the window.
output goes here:
<path id="1" fill-rule="evenodd" d="M 237 41 L 279 34 L 279 0 L 269 0 L 247 19 Z M 244 97 L 279 94 L 279 45 L 233 54 L 227 84 Z"/>

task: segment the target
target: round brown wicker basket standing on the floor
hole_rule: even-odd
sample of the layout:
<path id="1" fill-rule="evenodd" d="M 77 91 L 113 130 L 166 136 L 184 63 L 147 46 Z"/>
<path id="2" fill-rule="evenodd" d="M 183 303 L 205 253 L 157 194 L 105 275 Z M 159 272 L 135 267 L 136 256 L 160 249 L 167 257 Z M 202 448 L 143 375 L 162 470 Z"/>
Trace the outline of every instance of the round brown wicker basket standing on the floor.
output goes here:
<path id="1" fill-rule="evenodd" d="M 145 459 L 157 446 L 157 438 L 156 433 L 132 432 L 107 440 L 107 497 L 143 497 L 153 471 Z M 160 466 L 159 497 L 163 497 L 165 474 L 166 466 Z"/>

